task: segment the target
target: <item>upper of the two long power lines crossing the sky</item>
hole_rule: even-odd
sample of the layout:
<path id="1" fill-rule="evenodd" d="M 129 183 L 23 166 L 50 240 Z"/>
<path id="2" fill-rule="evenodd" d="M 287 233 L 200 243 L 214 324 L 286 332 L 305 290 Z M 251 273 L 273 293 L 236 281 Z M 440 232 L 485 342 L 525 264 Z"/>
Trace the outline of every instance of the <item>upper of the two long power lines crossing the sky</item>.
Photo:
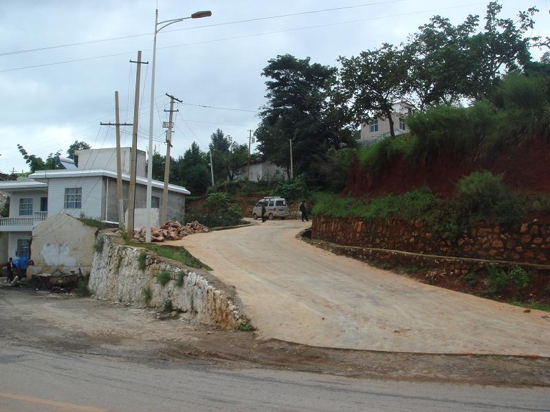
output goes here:
<path id="1" fill-rule="evenodd" d="M 321 13 L 321 12 L 333 12 L 337 10 L 346 10 L 346 9 L 352 9 L 352 8 L 362 8 L 369 5 L 382 5 L 382 4 L 391 4 L 391 3 L 400 3 L 402 1 L 406 0 L 391 0 L 391 1 L 379 1 L 376 3 L 364 3 L 364 4 L 358 4 L 358 5 L 347 5 L 342 7 L 336 7 L 336 8 L 327 8 L 322 10 L 311 10 L 308 12 L 298 12 L 298 13 L 289 13 L 289 14 L 278 14 L 276 16 L 266 16 L 266 17 L 256 17 L 253 19 L 245 19 L 245 20 L 237 20 L 237 21 L 227 21 L 225 23 L 213 23 L 213 24 L 207 24 L 207 25 L 200 25 L 195 27 L 184 27 L 181 29 L 173 29 L 173 30 L 166 30 L 164 33 L 169 32 L 179 32 L 181 30 L 196 30 L 196 29 L 202 29 L 205 27 L 216 27 L 221 25 L 232 25 L 232 24 L 238 24 L 238 23 L 250 23 L 252 21 L 262 21 L 262 20 L 270 20 L 270 19 L 281 19 L 283 17 L 291 17 L 291 16 L 301 16 L 303 14 L 314 14 L 314 13 Z M 90 40 L 90 41 L 82 41 L 79 43 L 65 43 L 62 45 L 52 45 L 52 46 L 45 46 L 45 47 L 36 47 L 35 49 L 26 49 L 26 50 L 16 50 L 13 52 L 3 52 L 0 53 L 0 56 L 10 56 L 13 54 L 23 54 L 23 53 L 32 53 L 32 52 L 42 52 L 43 50 L 51 50 L 51 49 L 61 49 L 62 47 L 72 47 L 72 46 L 80 46 L 80 45 L 90 45 L 94 43 L 102 43 L 106 41 L 115 41 L 115 40 L 124 40 L 126 38 L 135 38 L 135 37 L 143 37 L 143 36 L 151 36 L 153 33 L 142 33 L 142 34 L 129 34 L 126 36 L 118 36 L 118 37 L 111 37 L 111 38 L 100 38 L 96 40 Z"/>

